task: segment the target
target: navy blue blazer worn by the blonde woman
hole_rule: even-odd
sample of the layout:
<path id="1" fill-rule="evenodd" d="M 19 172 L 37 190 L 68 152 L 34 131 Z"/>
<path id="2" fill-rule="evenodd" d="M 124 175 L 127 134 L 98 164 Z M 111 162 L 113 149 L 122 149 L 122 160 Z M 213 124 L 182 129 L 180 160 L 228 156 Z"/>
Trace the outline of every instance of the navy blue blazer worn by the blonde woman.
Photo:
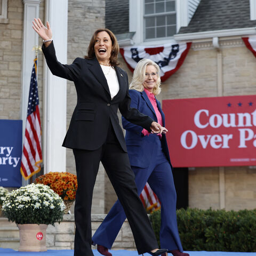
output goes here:
<path id="1" fill-rule="evenodd" d="M 155 110 L 146 92 L 129 90 L 129 94 L 131 97 L 131 107 L 137 108 L 140 111 L 140 113 L 153 118 L 154 121 L 157 122 Z M 165 126 L 164 113 L 161 108 L 161 104 L 157 99 L 156 99 L 156 104 L 159 112 L 162 115 L 163 126 Z M 156 143 L 159 141 L 159 137 L 156 134 L 150 134 L 149 136 L 144 136 L 141 133 L 141 131 L 143 130 L 143 127 L 130 123 L 124 117 L 122 117 L 122 124 L 123 124 L 123 128 L 126 130 L 125 142 L 126 142 L 131 165 L 137 166 L 140 168 L 147 168 L 149 166 L 150 159 L 154 157 L 152 155 L 153 150 L 151 149 L 156 146 Z M 164 151 L 164 154 L 171 165 L 165 134 L 162 134 L 161 144 L 162 144 L 162 149 Z"/>

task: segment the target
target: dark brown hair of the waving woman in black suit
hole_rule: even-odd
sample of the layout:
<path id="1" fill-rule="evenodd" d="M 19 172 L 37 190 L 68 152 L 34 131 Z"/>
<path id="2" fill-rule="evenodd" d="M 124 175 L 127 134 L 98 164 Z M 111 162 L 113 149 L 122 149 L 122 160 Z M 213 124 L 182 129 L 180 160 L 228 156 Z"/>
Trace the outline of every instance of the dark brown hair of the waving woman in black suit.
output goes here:
<path id="1" fill-rule="evenodd" d="M 96 37 L 97 37 L 98 33 L 102 32 L 102 31 L 107 32 L 111 39 L 112 50 L 111 50 L 111 55 L 110 55 L 109 61 L 110 61 L 111 66 L 116 67 L 117 65 L 119 65 L 119 63 L 117 61 L 117 57 L 118 57 L 118 53 L 119 53 L 119 45 L 117 43 L 117 39 L 116 39 L 116 36 L 114 35 L 114 33 L 107 28 L 100 28 L 94 32 L 94 34 L 91 38 L 90 44 L 88 46 L 88 49 L 87 49 L 87 55 L 85 55 L 84 58 L 90 60 L 95 57 L 94 45 L 95 45 Z"/>

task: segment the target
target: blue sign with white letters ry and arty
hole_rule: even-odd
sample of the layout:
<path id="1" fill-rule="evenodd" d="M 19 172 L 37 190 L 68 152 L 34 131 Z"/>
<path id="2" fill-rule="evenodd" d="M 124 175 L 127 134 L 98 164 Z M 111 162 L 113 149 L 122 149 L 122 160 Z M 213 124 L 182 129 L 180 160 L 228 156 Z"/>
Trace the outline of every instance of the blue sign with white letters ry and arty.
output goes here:
<path id="1" fill-rule="evenodd" d="M 22 185 L 22 120 L 0 120 L 0 186 Z"/>

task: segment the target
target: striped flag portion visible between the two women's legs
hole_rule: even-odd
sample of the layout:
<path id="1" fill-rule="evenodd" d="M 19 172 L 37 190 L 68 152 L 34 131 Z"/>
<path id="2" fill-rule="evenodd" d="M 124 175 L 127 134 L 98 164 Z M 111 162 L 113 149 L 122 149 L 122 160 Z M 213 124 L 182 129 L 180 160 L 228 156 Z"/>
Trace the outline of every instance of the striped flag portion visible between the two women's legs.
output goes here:
<path id="1" fill-rule="evenodd" d="M 146 183 L 145 187 L 143 188 L 140 194 L 140 199 L 148 213 L 156 211 L 161 207 L 161 203 L 157 195 L 150 188 L 148 182 Z"/>

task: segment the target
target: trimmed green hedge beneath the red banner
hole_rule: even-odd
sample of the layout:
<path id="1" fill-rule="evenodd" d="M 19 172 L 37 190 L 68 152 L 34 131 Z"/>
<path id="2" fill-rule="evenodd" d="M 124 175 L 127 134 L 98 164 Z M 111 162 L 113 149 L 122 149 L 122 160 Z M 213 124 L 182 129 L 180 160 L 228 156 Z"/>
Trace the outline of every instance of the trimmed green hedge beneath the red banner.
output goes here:
<path id="1" fill-rule="evenodd" d="M 150 214 L 159 243 L 161 212 Z M 177 210 L 185 251 L 256 252 L 256 210 Z"/>

